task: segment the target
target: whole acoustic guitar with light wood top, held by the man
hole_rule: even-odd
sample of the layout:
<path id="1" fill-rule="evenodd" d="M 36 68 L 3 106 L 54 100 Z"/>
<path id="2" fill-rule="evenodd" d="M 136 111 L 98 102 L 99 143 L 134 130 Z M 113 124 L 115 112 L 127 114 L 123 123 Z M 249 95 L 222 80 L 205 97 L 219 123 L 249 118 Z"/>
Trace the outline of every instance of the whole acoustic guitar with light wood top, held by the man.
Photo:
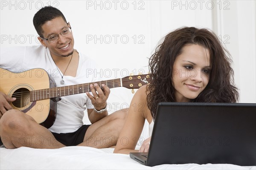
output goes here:
<path id="1" fill-rule="evenodd" d="M 150 74 L 127 76 L 100 82 L 88 82 L 79 85 L 68 85 L 50 88 L 47 71 L 35 68 L 28 71 L 13 73 L 0 68 L 0 91 L 10 97 L 15 97 L 10 105 L 14 109 L 32 116 L 44 127 L 51 127 L 56 118 L 56 99 L 61 96 L 90 92 L 90 84 L 107 85 L 109 88 L 125 87 L 137 89 L 149 83 Z"/>

